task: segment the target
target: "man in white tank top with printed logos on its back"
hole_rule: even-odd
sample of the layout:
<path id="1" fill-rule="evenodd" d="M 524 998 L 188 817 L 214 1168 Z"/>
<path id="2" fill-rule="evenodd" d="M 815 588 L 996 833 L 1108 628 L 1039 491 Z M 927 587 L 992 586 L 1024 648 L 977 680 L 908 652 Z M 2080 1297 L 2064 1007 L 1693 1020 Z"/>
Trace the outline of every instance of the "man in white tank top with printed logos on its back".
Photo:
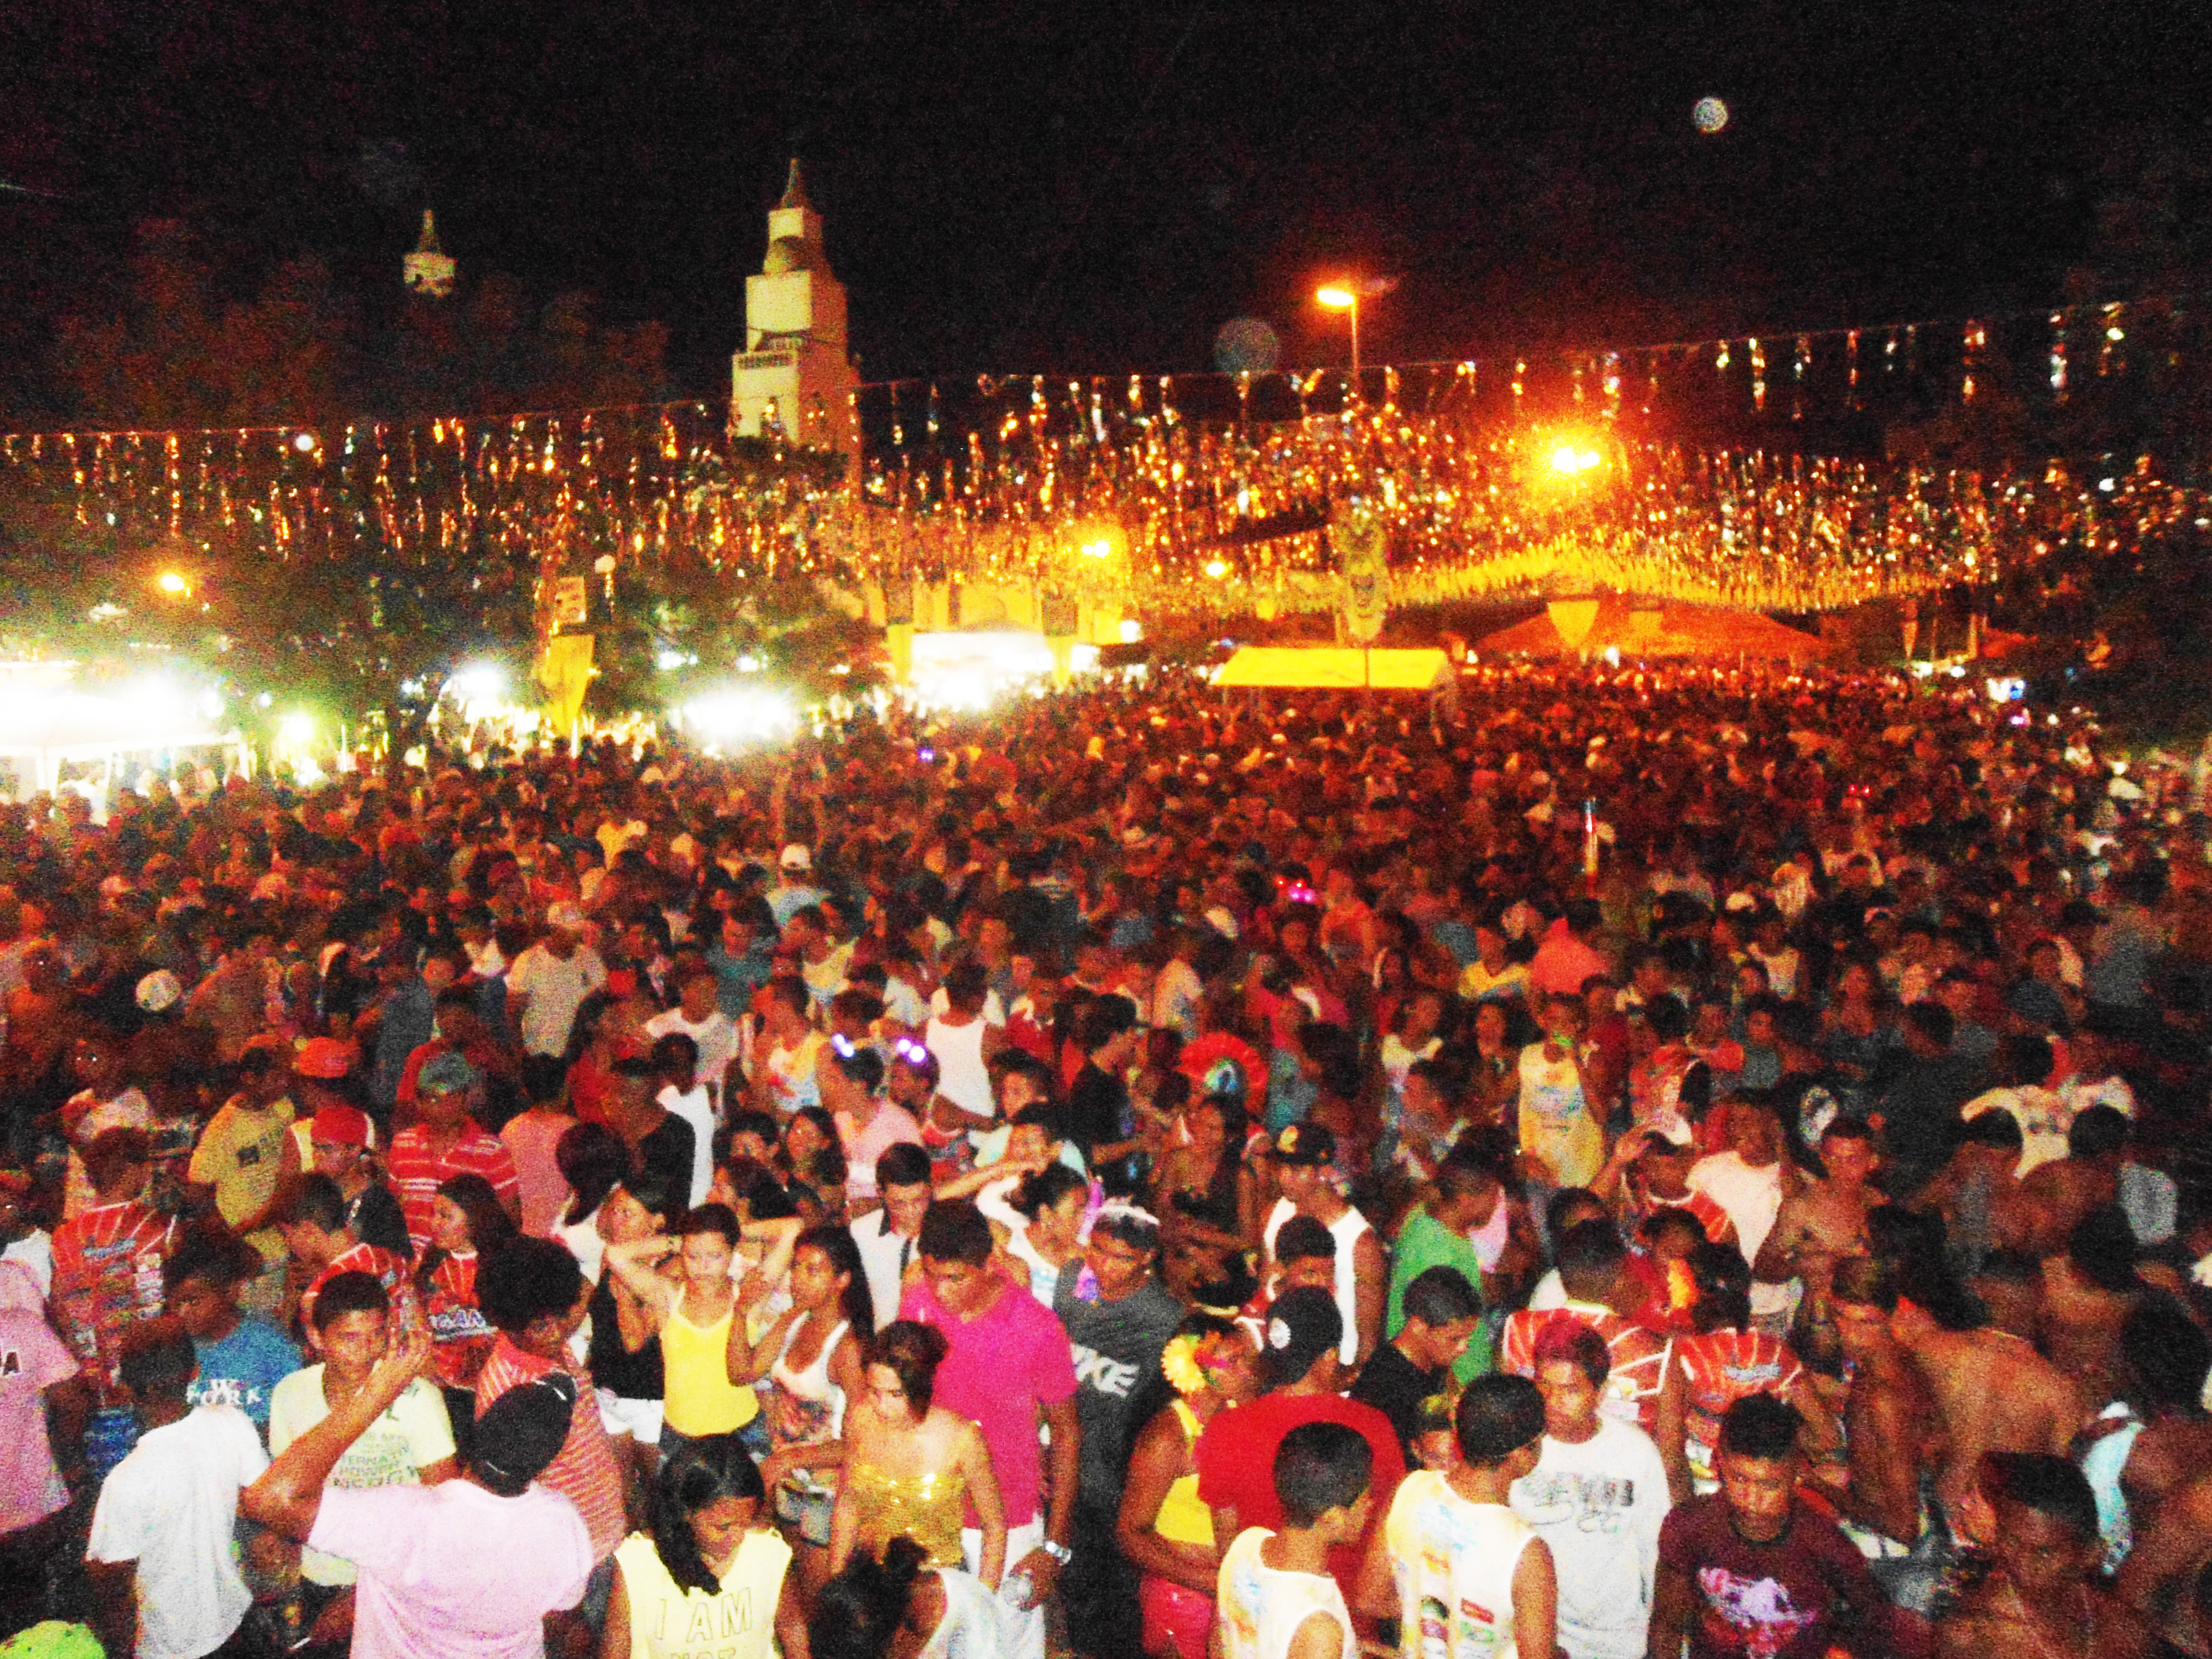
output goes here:
<path id="1" fill-rule="evenodd" d="M 1360 1573 L 1360 1606 L 1398 1619 L 1405 1659 L 1551 1659 L 1559 1582 L 1551 1546 L 1506 1504 L 1535 1469 L 1544 1396 L 1524 1376 L 1478 1376 L 1453 1416 L 1460 1464 L 1398 1484 Z"/>

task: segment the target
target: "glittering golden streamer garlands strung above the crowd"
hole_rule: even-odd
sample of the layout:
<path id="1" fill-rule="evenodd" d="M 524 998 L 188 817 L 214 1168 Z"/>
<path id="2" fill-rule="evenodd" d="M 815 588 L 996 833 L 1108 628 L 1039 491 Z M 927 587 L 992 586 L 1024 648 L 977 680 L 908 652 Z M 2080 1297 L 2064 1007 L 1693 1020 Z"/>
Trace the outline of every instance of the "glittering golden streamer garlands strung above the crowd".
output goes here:
<path id="1" fill-rule="evenodd" d="M 615 555 L 732 584 L 1026 582 L 1261 615 L 1338 602 L 1327 526 L 1356 509 L 1385 529 L 1396 606 L 1621 588 L 1829 611 L 1995 582 L 2068 542 L 2119 553 L 2212 524 L 2205 489 L 2148 456 L 2077 473 L 1805 453 L 1847 449 L 1849 422 L 1869 449 L 1869 403 L 1896 409 L 1927 376 L 1953 387 L 1944 407 L 1964 422 L 2028 389 L 2066 420 L 2095 387 L 2154 400 L 2183 363 L 2181 316 L 2172 301 L 2084 305 L 2035 314 L 2033 338 L 2020 319 L 1980 319 L 1770 336 L 1787 356 L 1703 341 L 1520 354 L 1509 369 L 1398 365 L 1360 387 L 1327 369 L 978 376 L 958 398 L 876 385 L 856 394 L 876 442 L 843 484 L 772 449 L 732 453 L 726 409 L 703 400 L 7 434 L 0 495 L 58 507 L 119 549 L 184 542 L 210 557 L 246 544 L 345 560 L 374 544 L 418 564 L 531 557 L 551 575 Z M 2095 338 L 2093 376 L 2070 354 L 2079 338 Z M 1699 442 L 1728 429 L 1752 442 Z"/>

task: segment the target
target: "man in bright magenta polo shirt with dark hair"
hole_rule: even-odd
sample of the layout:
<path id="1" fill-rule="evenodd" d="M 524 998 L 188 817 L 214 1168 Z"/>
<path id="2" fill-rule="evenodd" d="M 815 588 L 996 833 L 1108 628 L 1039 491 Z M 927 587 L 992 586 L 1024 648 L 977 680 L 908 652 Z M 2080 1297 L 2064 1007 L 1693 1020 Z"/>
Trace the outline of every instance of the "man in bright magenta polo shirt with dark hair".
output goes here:
<path id="1" fill-rule="evenodd" d="M 1026 1575 L 1029 1615 L 1009 1659 L 1044 1659 L 1044 1597 L 1068 1562 L 1084 1431 L 1075 1418 L 1075 1358 L 1068 1334 L 1044 1303 L 991 1265 L 991 1223 L 967 1199 L 929 1206 L 918 1239 L 922 1283 L 898 1303 L 900 1318 L 945 1332 L 936 1402 L 973 1418 L 991 1447 L 1006 1506 L 1006 1577 Z M 1051 1513 L 1037 1513 L 1044 1469 L 1037 1425 L 1053 1440 Z M 969 1571 L 982 1533 L 969 1528 Z"/>

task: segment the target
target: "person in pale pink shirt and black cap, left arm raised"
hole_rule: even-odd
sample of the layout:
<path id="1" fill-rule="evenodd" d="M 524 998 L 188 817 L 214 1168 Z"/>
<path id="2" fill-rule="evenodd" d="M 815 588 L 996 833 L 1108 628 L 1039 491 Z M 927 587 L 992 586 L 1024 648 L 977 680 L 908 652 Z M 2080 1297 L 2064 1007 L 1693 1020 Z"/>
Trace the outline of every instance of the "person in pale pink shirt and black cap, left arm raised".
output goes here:
<path id="1" fill-rule="evenodd" d="M 394 1343 L 367 1387 L 239 1493 L 239 1513 L 358 1568 L 354 1659 L 542 1659 L 546 1615 L 575 1608 L 593 1571 L 584 1517 L 538 1484 L 568 1438 L 575 1378 L 502 1394 L 476 1420 L 460 1480 L 325 1489 L 427 1365 L 427 1332 Z"/>

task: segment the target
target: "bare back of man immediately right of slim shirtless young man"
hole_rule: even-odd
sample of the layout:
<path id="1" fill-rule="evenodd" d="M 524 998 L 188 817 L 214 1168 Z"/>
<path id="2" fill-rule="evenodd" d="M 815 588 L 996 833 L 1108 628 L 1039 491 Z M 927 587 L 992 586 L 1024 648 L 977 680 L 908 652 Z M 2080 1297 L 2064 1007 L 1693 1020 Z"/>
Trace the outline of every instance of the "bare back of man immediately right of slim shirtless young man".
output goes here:
<path id="1" fill-rule="evenodd" d="M 1973 1314 L 1980 1316 L 1980 1310 Z M 1989 1504 L 1973 1484 L 1982 1453 L 2048 1451 L 2064 1458 L 2088 1418 L 2081 1389 L 2017 1332 L 1986 1323 L 1947 1329 L 1913 1305 L 1900 1307 L 1889 1323 L 1936 1394 L 1944 1436 L 1936 1495 L 1960 1533 L 1986 1542 Z"/>

